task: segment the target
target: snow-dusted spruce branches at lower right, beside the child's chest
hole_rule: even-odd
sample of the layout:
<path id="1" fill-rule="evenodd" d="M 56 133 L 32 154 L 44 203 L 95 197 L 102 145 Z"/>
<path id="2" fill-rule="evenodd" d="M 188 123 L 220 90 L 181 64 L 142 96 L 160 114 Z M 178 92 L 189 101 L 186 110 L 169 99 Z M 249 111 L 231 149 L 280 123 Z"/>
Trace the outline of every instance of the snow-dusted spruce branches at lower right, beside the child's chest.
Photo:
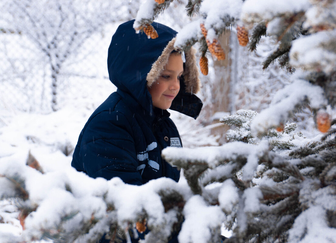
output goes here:
<path id="1" fill-rule="evenodd" d="M 167 148 L 163 156 L 184 169 L 194 197 L 201 197 L 205 208 L 218 206 L 225 213 L 223 223 L 233 235 L 224 243 L 335 242 L 336 129 L 322 142 L 294 133 L 295 123 L 256 138 L 249 127 L 254 116 L 256 112 L 239 110 L 221 119 L 237 126 L 227 133 L 235 142 Z M 192 215 L 185 217 L 192 220 Z M 219 233 L 214 225 L 211 231 Z M 194 233 L 182 225 L 180 234 Z M 216 235 L 207 242 L 216 242 Z"/>

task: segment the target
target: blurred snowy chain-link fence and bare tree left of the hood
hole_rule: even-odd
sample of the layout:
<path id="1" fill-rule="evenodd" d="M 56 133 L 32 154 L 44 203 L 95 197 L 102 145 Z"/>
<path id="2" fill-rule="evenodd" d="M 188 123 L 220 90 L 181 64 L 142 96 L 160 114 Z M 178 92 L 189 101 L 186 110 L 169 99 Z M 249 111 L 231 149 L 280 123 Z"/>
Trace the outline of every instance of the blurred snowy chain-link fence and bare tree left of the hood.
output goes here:
<path id="1" fill-rule="evenodd" d="M 50 112 L 111 93 L 107 50 L 117 23 L 134 17 L 130 8 L 137 9 L 137 1 L 132 4 L 0 3 L 0 110 Z M 95 91 L 97 86 L 104 88 Z"/>

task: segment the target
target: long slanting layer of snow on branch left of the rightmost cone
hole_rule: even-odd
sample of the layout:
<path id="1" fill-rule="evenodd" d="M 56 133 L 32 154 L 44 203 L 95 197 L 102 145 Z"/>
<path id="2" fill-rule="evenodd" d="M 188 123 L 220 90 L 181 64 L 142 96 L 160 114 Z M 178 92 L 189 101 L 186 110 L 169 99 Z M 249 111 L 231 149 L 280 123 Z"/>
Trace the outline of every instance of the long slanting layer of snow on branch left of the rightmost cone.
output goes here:
<path id="1" fill-rule="evenodd" d="M 262 110 L 252 120 L 251 133 L 253 135 L 265 134 L 268 129 L 275 128 L 280 123 L 285 124 L 289 113 L 305 99 L 308 100 L 312 108 L 318 109 L 327 104 L 321 87 L 304 80 L 295 80 L 292 84 L 278 91 L 270 106 Z"/>

